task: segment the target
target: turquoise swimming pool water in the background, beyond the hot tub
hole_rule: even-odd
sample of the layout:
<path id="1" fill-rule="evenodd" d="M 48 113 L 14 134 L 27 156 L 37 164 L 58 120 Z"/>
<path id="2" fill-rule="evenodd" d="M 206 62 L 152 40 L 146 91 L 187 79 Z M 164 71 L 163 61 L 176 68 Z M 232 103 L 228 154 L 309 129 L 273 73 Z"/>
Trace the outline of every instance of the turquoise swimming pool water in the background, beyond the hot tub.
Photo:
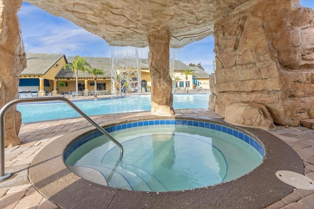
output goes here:
<path id="1" fill-rule="evenodd" d="M 208 102 L 209 94 L 175 94 L 173 108 L 208 108 Z M 88 116 L 150 111 L 151 95 L 136 95 L 97 101 L 91 100 L 75 102 L 74 104 Z M 22 122 L 24 123 L 80 116 L 65 103 L 17 105 L 17 110 L 22 113 Z"/>

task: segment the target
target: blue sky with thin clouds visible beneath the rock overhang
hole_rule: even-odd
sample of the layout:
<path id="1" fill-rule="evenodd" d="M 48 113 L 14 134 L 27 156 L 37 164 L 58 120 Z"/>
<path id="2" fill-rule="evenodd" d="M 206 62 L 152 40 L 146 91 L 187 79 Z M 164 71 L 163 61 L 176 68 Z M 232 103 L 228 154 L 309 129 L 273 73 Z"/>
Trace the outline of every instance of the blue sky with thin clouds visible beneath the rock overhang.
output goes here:
<path id="1" fill-rule="evenodd" d="M 300 4 L 314 9 L 314 0 L 300 0 Z M 109 46 L 101 37 L 86 31 L 62 17 L 23 2 L 18 12 L 25 51 L 29 53 L 52 53 L 82 57 L 110 57 L 116 46 Z M 201 63 L 209 74 L 213 72 L 214 38 L 206 37 L 180 49 L 171 50 L 171 56 L 184 64 Z M 129 49 L 130 50 L 130 49 Z M 133 49 L 134 50 L 134 49 Z M 138 48 L 139 55 L 147 58 L 148 47 Z"/>

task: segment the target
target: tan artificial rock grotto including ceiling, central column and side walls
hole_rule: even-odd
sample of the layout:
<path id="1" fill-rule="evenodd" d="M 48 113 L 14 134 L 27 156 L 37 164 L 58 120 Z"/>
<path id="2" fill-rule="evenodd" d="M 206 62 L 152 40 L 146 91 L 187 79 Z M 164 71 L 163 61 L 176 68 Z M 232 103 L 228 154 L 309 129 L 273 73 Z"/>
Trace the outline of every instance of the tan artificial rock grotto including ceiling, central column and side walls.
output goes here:
<path id="1" fill-rule="evenodd" d="M 296 126 L 314 117 L 314 13 L 297 0 L 26 1 L 99 35 L 111 46 L 150 46 L 153 114 L 174 114 L 165 48 L 214 34 L 217 56 L 210 109 L 224 116 L 226 106 L 254 101 L 263 104 L 277 124 Z M 26 61 L 16 16 L 22 0 L 0 3 L 3 106 L 17 98 Z M 20 116 L 13 110 L 7 115 L 6 141 L 15 141 Z"/>

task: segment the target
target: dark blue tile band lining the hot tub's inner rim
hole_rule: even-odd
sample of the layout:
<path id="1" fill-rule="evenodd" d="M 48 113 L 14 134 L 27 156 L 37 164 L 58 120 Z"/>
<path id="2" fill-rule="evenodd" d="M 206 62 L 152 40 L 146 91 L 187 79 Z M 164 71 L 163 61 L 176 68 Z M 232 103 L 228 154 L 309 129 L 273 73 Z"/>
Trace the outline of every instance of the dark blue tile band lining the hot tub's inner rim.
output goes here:
<path id="1" fill-rule="evenodd" d="M 220 131 L 229 135 L 232 135 L 238 139 L 241 139 L 254 147 L 261 155 L 264 157 L 264 148 L 263 146 L 255 139 L 252 137 L 248 136 L 245 133 L 242 133 L 240 131 L 237 131 L 235 129 L 232 129 L 230 127 L 224 126 L 224 125 L 218 125 L 215 123 L 210 123 L 210 122 L 203 122 L 203 121 L 198 121 L 198 120 L 180 120 L 180 119 L 157 119 L 157 120 L 143 120 L 143 121 L 135 121 L 135 122 L 129 122 L 129 123 L 122 123 L 110 127 L 106 127 L 105 131 L 110 133 L 118 130 L 124 130 L 128 128 L 133 128 L 133 127 L 140 127 L 140 126 L 151 126 L 151 125 L 167 125 L 167 124 L 172 124 L 172 125 L 188 125 L 188 126 L 197 126 L 197 127 L 204 127 L 207 129 L 212 129 L 216 131 Z M 72 152 L 74 152 L 79 146 L 82 144 L 96 138 L 99 136 L 104 135 L 100 131 L 95 131 L 93 133 L 90 133 L 80 139 L 78 139 L 76 142 L 70 145 L 70 147 L 67 148 L 67 150 L 64 152 L 64 160 L 66 160 Z"/>

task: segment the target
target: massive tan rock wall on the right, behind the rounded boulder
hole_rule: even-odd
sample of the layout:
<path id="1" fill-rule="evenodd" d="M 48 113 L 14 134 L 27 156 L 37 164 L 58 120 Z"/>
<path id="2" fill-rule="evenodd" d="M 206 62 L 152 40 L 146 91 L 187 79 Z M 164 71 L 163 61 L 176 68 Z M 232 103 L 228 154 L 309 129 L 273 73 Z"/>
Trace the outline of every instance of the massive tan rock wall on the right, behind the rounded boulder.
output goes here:
<path id="1" fill-rule="evenodd" d="M 216 71 L 209 108 L 264 104 L 277 124 L 314 111 L 314 12 L 294 1 L 249 1 L 215 21 Z M 213 84 L 216 86 L 213 87 Z"/>

